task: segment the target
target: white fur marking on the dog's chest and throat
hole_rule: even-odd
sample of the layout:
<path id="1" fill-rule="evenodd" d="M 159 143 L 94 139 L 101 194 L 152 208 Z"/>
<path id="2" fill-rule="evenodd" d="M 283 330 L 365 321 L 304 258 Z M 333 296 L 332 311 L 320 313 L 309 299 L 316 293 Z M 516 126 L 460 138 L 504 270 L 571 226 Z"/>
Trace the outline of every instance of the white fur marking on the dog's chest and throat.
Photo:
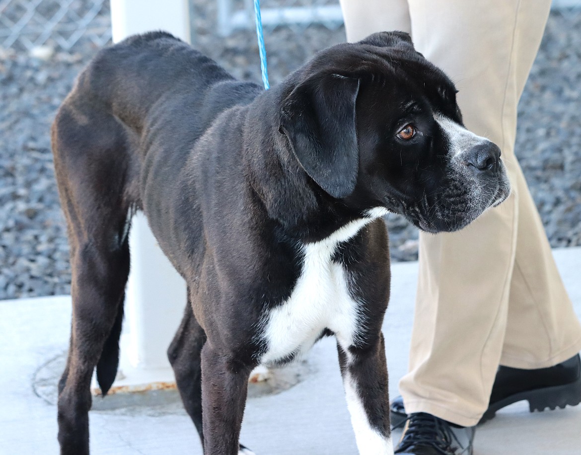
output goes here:
<path id="1" fill-rule="evenodd" d="M 346 224 L 320 242 L 303 246 L 303 268 L 290 298 L 267 314 L 267 352 L 261 363 L 306 352 L 325 328 L 335 333 L 342 346 L 353 343 L 360 303 L 350 295 L 345 269 L 332 257 L 339 243 L 353 238 L 365 224 L 385 213 L 383 208 L 372 209 L 367 217 Z"/>

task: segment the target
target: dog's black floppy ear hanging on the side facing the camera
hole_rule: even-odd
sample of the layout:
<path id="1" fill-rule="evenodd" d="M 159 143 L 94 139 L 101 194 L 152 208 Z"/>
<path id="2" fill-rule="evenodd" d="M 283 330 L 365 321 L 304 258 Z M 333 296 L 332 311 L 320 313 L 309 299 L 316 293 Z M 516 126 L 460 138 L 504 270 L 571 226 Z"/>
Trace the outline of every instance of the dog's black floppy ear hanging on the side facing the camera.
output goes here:
<path id="1" fill-rule="evenodd" d="M 358 79 L 326 74 L 297 85 L 282 104 L 279 131 L 309 177 L 334 198 L 350 195 L 357 183 L 358 91 Z"/>

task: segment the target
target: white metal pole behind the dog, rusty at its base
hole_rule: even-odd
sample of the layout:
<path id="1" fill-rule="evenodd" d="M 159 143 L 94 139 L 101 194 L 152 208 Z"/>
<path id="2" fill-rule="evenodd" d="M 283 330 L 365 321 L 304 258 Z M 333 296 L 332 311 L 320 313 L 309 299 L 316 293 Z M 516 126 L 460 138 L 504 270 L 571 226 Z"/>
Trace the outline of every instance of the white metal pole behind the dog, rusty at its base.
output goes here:
<path id="1" fill-rule="evenodd" d="M 188 0 L 111 0 L 113 42 L 165 30 L 190 41 Z M 131 273 L 116 390 L 146 390 L 174 382 L 166 350 L 186 304 L 185 282 L 157 245 L 143 214 L 132 220 Z"/>

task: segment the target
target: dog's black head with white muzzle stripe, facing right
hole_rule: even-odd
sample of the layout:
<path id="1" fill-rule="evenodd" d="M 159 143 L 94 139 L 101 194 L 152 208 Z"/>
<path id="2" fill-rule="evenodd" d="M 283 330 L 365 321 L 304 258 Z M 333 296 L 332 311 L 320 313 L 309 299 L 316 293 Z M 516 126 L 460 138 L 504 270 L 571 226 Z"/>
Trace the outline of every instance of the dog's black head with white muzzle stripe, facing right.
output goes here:
<path id="1" fill-rule="evenodd" d="M 279 131 L 333 198 L 438 232 L 509 194 L 500 149 L 464 127 L 454 84 L 406 33 L 333 46 L 290 80 Z"/>

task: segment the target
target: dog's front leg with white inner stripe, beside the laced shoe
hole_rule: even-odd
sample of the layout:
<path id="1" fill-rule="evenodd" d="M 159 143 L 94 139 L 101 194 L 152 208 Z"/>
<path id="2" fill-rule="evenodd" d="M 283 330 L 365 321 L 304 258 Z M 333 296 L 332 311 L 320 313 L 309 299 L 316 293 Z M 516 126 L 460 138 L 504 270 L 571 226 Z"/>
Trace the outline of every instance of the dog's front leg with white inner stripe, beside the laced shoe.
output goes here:
<path id="1" fill-rule="evenodd" d="M 342 347 L 339 339 L 337 347 L 359 453 L 393 454 L 383 335 L 380 333 L 374 342 L 364 347 Z"/>

